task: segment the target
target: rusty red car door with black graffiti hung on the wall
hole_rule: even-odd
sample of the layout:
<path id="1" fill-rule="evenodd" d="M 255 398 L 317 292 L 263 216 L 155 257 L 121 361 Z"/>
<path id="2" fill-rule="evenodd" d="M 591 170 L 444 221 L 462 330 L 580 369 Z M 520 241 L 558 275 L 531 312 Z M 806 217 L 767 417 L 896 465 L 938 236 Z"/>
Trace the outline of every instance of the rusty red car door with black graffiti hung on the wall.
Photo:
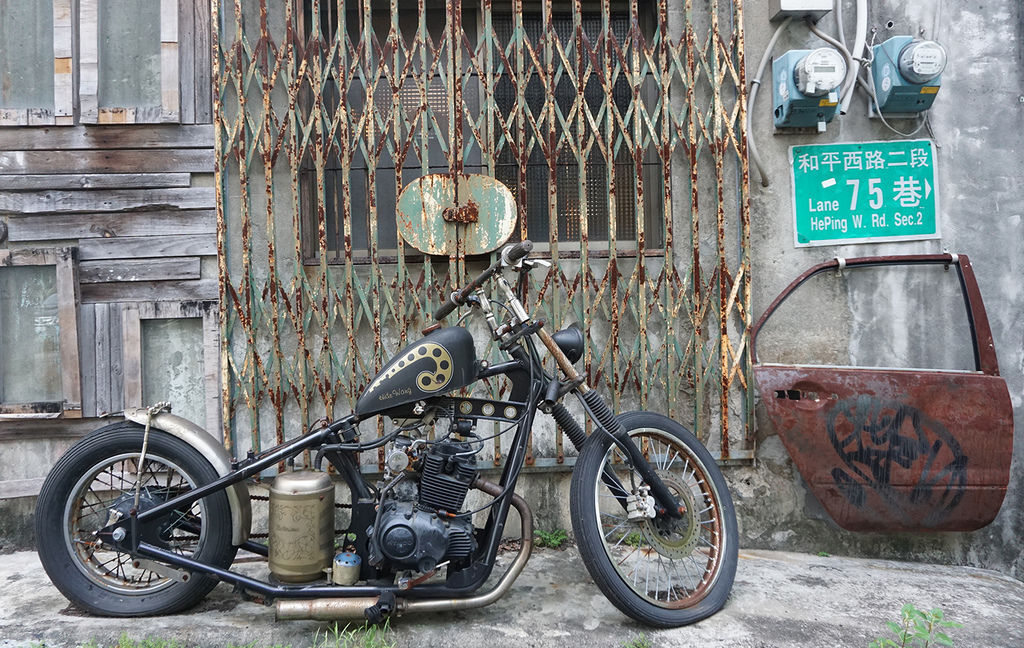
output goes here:
<path id="1" fill-rule="evenodd" d="M 762 327 L 812 276 L 916 264 L 943 264 L 958 273 L 974 371 L 758 361 Z M 963 531 L 988 524 L 998 513 L 1010 477 L 1013 407 L 966 256 L 865 257 L 816 265 L 782 291 L 754 327 L 752 355 L 770 424 L 840 526 Z"/>

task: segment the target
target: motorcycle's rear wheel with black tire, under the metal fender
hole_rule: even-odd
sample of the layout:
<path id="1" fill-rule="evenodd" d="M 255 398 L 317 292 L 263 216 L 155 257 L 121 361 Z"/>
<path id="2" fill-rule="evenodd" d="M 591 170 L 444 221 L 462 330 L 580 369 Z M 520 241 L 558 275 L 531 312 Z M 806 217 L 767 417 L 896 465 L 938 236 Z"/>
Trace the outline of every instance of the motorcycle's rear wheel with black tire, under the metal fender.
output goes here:
<path id="1" fill-rule="evenodd" d="M 144 429 L 123 422 L 86 436 L 60 458 L 36 505 L 36 546 L 50 580 L 78 608 L 101 616 L 179 612 L 198 603 L 217 580 L 137 562 L 98 542 L 93 532 L 134 507 Z M 153 508 L 217 479 L 217 472 L 184 441 L 151 430 L 142 465 L 139 509 Z M 161 520 L 145 542 L 203 563 L 227 567 L 230 510 L 223 490 Z M 159 573 L 162 572 L 162 573 Z"/>

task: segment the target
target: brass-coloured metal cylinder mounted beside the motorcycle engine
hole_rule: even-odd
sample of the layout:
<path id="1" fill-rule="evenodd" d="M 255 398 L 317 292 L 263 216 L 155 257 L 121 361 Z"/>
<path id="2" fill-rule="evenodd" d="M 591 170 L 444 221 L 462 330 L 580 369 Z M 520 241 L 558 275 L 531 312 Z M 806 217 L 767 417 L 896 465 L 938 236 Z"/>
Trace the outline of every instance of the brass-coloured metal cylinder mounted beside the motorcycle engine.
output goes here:
<path id="1" fill-rule="evenodd" d="M 324 576 L 334 556 L 334 484 L 327 473 L 278 475 L 270 486 L 270 573 L 285 582 Z"/>

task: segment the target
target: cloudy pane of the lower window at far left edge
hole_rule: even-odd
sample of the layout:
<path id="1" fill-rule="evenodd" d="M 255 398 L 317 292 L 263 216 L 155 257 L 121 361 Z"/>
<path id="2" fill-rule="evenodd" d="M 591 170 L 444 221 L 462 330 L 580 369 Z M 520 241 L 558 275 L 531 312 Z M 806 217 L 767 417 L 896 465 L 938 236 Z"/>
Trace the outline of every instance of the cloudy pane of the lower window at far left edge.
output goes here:
<path id="1" fill-rule="evenodd" d="M 0 268 L 0 402 L 62 400 L 56 268 Z"/>

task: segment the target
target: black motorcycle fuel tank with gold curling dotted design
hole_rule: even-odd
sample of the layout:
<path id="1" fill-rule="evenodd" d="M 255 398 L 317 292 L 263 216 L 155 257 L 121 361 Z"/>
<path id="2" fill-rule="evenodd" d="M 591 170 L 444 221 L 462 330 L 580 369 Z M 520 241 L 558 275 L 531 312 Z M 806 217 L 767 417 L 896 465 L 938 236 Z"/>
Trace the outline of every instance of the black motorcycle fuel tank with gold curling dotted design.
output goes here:
<path id="1" fill-rule="evenodd" d="M 473 336 L 462 327 L 438 329 L 399 351 L 355 403 L 360 419 L 438 396 L 476 380 Z"/>

